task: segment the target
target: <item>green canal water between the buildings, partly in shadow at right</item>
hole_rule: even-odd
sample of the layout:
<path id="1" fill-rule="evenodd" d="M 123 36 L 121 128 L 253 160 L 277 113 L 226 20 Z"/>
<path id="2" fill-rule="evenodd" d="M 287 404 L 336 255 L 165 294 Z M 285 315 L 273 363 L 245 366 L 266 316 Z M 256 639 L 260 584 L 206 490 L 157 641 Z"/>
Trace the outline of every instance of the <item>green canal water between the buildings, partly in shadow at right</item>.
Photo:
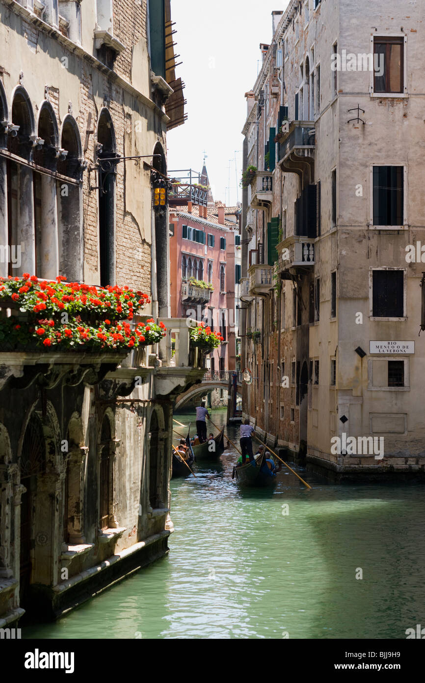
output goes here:
<path id="1" fill-rule="evenodd" d="M 420 484 L 335 485 L 299 469 L 306 490 L 282 469 L 273 492 L 241 491 L 234 462 L 226 449 L 218 467 L 173 479 L 166 557 L 23 637 L 405 639 L 425 625 Z"/>

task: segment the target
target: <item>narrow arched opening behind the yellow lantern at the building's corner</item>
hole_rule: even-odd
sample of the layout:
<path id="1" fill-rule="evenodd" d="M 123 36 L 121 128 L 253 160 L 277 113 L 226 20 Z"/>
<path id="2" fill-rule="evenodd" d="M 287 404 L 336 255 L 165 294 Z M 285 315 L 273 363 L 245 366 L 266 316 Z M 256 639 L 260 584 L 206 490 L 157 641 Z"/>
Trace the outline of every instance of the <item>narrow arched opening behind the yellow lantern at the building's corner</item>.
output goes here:
<path id="1" fill-rule="evenodd" d="M 164 149 L 160 142 L 157 142 L 153 150 L 152 166 L 153 185 L 158 186 L 166 181 L 166 160 Z M 158 316 L 169 317 L 168 306 L 168 283 L 169 283 L 169 240 L 168 240 L 168 210 L 166 206 L 156 206 L 155 212 L 155 264 L 156 280 L 153 283 L 153 292 L 156 292 L 158 301 Z"/>

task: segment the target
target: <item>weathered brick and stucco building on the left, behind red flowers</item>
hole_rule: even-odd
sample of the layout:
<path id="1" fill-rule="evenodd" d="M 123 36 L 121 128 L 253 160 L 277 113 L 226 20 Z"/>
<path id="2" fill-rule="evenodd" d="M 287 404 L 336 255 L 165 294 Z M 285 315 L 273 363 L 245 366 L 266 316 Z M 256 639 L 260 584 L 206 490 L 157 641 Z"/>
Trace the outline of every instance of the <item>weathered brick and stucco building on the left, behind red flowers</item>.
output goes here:
<path id="1" fill-rule="evenodd" d="M 185 119 L 171 30 L 169 0 L 0 2 L 0 275 L 141 290 L 168 330 L 127 357 L 0 350 L 0 626 L 167 550 L 173 400 L 202 376 L 152 201 Z"/>

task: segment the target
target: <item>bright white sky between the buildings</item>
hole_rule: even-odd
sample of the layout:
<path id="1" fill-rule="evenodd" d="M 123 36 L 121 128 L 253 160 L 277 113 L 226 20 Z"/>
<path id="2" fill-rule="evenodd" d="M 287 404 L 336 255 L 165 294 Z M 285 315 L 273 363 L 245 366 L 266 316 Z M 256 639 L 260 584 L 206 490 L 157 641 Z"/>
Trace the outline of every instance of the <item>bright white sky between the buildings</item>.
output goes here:
<path id="1" fill-rule="evenodd" d="M 171 1 L 175 53 L 177 62 L 183 61 L 176 75 L 186 84 L 188 120 L 167 135 L 168 169 L 201 171 L 205 152 L 214 199 L 227 206 L 241 201 L 244 94 L 257 79 L 260 43 L 272 40 L 272 11 L 287 5 L 287 0 Z"/>

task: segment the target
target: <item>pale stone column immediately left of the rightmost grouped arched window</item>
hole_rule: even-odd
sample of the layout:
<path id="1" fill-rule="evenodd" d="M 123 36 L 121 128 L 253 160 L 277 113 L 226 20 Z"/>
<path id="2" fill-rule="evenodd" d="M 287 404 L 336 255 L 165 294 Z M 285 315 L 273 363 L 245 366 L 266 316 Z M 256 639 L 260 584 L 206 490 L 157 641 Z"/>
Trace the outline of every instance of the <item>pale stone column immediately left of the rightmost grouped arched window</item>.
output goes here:
<path id="1" fill-rule="evenodd" d="M 54 280 L 59 273 L 59 249 L 57 238 L 56 180 L 42 175 L 42 234 L 41 273 L 47 280 Z"/>

